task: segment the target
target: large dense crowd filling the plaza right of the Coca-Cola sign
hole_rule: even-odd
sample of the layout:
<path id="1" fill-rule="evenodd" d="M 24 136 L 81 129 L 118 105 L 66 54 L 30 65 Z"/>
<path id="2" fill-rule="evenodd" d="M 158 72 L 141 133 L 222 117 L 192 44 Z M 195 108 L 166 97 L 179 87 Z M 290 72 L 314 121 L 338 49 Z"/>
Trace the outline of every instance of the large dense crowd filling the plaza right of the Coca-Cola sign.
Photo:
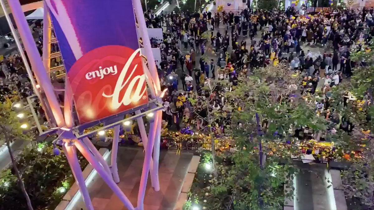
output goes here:
<path id="1" fill-rule="evenodd" d="M 244 9 L 159 16 L 146 11 L 148 26 L 163 28 L 163 41 L 152 43 L 161 50 L 157 68 L 162 88 L 168 89 L 163 102 L 168 127 L 204 129 L 209 112 L 226 108 L 222 93 L 231 89 L 213 86 L 217 84 L 214 80 L 236 86 L 240 74 L 250 75 L 255 68 L 279 62 L 303 75 L 303 94 L 323 93 L 316 107 L 323 107 L 330 116 L 331 87 L 350 77 L 355 66 L 366 65 L 364 60 L 351 61 L 350 50 L 361 50 L 372 40 L 373 8 L 305 11 L 304 4 L 286 11 Z M 349 93 L 344 99 L 346 104 Z"/>

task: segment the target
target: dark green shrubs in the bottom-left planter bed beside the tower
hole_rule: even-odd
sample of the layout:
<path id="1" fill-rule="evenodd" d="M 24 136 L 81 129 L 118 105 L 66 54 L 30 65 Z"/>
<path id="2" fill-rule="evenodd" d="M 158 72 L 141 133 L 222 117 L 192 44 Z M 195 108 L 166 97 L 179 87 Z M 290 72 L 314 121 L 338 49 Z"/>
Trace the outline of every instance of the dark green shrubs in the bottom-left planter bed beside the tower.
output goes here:
<path id="1" fill-rule="evenodd" d="M 42 151 L 25 150 L 18 156 L 18 169 L 31 203 L 36 210 L 54 209 L 65 195 L 65 192 L 60 192 L 58 189 L 63 187 L 67 191 L 74 182 L 65 155 L 62 153 L 53 156 L 52 149 L 52 145 L 46 145 Z M 88 162 L 82 155 L 79 155 L 78 158 L 83 169 Z M 24 198 L 21 189 L 17 186 L 17 180 L 12 175 L 13 173 L 9 174 L 11 170 L 4 170 L 0 176 L 0 182 L 6 180 L 10 183 L 8 189 L 0 187 L 1 207 L 4 209 L 26 209 L 26 203 L 20 202 Z"/>

